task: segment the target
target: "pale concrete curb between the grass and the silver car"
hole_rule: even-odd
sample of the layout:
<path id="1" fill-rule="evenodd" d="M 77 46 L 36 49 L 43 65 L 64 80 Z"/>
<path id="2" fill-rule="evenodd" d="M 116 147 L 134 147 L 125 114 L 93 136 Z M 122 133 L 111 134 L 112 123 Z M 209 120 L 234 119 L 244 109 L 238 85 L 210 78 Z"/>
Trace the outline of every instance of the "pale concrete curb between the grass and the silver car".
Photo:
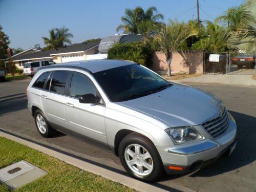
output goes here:
<path id="1" fill-rule="evenodd" d="M 26 145 L 30 148 L 33 148 L 34 150 L 40 151 L 40 152 L 45 153 L 49 156 L 52 156 L 56 159 L 59 159 L 61 161 L 64 161 L 71 165 L 74 165 L 82 170 L 87 171 L 87 172 L 102 176 L 106 179 L 109 179 L 109 180 L 112 180 L 115 182 L 119 182 L 123 185 L 134 188 L 138 191 L 194 191 L 193 189 L 187 188 L 185 186 L 177 185 L 177 184 L 173 184 L 172 187 L 167 187 L 168 190 L 164 190 L 157 186 L 133 179 L 131 177 L 124 176 L 124 175 L 116 173 L 116 172 L 112 172 L 111 170 L 108 170 L 108 169 L 99 167 L 97 165 L 79 160 L 77 158 L 59 153 L 57 151 L 51 150 L 50 148 L 41 146 L 39 144 L 27 141 L 27 140 L 19 138 L 19 137 L 15 137 L 13 135 L 4 133 L 2 131 L 0 131 L 0 136 L 10 139 L 12 141 L 15 141 L 17 143 Z"/>

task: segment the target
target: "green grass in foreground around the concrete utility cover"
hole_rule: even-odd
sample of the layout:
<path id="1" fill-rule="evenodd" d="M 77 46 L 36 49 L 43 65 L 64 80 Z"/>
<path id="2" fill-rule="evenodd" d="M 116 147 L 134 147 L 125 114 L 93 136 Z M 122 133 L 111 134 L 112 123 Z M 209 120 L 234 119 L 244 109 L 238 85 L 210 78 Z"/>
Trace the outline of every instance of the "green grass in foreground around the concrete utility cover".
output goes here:
<path id="1" fill-rule="evenodd" d="M 16 191 L 134 191 L 120 183 L 84 172 L 28 146 L 0 137 L 0 168 L 20 160 L 34 164 L 48 174 Z M 8 188 L 0 184 L 0 191 L 8 191 Z"/>

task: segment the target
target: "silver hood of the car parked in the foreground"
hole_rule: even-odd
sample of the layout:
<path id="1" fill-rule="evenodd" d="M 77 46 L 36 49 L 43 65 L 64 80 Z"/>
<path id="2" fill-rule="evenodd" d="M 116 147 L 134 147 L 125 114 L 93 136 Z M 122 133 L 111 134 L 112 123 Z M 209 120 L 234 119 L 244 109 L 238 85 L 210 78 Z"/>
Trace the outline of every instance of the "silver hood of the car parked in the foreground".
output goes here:
<path id="1" fill-rule="evenodd" d="M 213 94 L 176 83 L 160 92 L 119 104 L 172 127 L 201 124 L 224 108 L 222 101 Z"/>

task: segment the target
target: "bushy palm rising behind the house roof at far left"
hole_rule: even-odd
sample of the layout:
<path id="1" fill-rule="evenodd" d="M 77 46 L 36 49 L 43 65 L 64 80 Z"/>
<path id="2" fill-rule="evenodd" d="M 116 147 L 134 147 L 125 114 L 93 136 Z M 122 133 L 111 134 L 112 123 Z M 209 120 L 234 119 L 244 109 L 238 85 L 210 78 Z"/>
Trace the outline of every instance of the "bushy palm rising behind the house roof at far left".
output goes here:
<path id="1" fill-rule="evenodd" d="M 64 44 L 71 44 L 70 38 L 73 37 L 71 33 L 69 33 L 69 29 L 66 27 L 61 28 L 53 28 L 49 30 L 50 37 L 42 37 L 45 45 L 49 49 L 58 49 L 64 47 Z"/>

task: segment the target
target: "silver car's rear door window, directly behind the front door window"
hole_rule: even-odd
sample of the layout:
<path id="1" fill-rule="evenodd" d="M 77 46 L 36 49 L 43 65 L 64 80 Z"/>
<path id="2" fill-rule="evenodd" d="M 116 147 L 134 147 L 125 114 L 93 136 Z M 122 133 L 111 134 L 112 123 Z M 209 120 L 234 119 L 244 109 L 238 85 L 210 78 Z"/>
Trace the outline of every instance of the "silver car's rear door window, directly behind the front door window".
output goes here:
<path id="1" fill-rule="evenodd" d="M 65 93 L 65 86 L 68 75 L 69 72 L 66 71 L 53 72 L 50 91 L 63 95 Z"/>

